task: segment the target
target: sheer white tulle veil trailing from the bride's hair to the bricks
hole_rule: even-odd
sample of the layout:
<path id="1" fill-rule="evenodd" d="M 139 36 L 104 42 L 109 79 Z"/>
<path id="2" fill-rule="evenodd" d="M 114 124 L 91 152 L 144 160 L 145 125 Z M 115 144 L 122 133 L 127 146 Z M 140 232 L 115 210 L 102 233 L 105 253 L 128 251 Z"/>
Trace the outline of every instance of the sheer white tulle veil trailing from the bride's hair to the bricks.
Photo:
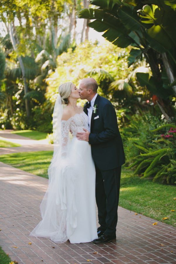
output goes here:
<path id="1" fill-rule="evenodd" d="M 64 155 L 62 153 L 62 113 L 63 105 L 60 94 L 58 94 L 53 112 L 54 153 L 48 168 L 48 189 L 40 204 L 42 221 L 30 234 L 30 236 L 36 237 L 49 237 L 56 243 L 65 242 L 68 239 L 67 229 L 69 228 L 69 233 L 73 233 L 77 226 L 75 173 L 72 171 L 68 153 L 64 153 Z M 67 147 L 69 141 L 68 139 L 66 142 Z M 68 148 L 65 149 L 68 150 Z M 69 185 L 69 194 L 67 193 L 67 185 Z M 68 201 L 71 201 L 71 204 Z M 67 207 L 69 207 L 69 215 Z"/>

